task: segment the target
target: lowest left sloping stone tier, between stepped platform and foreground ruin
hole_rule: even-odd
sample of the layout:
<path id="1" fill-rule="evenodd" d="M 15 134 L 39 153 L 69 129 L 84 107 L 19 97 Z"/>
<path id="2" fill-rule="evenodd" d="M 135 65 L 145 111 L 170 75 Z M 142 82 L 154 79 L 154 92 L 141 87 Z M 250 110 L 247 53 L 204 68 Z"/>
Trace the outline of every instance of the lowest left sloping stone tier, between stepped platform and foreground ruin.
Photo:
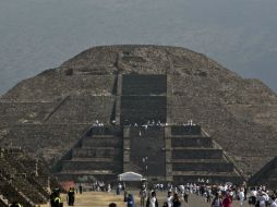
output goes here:
<path id="1" fill-rule="evenodd" d="M 85 134 L 86 124 L 21 124 L 10 130 L 1 146 L 21 146 L 29 154 L 41 156 L 52 165 Z"/>

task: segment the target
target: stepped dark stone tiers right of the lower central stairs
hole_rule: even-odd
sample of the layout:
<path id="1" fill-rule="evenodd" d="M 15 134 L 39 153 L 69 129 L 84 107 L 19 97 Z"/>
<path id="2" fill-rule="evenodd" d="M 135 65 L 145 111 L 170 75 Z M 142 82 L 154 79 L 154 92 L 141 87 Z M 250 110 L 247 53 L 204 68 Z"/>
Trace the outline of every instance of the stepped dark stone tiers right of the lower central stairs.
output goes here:
<path id="1" fill-rule="evenodd" d="M 171 175 L 176 183 L 241 183 L 234 165 L 198 125 L 171 126 Z"/>

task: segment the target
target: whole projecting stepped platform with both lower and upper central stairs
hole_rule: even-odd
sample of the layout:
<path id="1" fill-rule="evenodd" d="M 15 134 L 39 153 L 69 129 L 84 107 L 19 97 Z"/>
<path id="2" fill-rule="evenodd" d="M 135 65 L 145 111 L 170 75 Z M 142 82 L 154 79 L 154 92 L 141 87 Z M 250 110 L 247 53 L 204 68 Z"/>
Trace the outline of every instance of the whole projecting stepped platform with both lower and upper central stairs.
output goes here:
<path id="1" fill-rule="evenodd" d="M 157 125 L 171 123 L 170 96 L 170 75 L 118 74 L 118 125 L 92 127 L 62 159 L 60 180 L 108 182 L 133 171 L 153 182 L 241 183 L 234 163 L 200 125 Z"/>

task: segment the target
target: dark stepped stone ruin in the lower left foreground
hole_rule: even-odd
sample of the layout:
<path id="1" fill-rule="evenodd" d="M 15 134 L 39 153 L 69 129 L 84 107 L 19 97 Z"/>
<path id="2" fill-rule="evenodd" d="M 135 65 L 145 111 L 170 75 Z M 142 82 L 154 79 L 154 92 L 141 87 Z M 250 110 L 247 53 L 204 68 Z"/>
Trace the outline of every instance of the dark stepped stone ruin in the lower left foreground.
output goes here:
<path id="1" fill-rule="evenodd" d="M 22 149 L 1 148 L 1 173 L 0 173 L 0 194 L 4 195 L 10 203 L 17 200 L 24 206 L 35 206 L 36 204 L 46 204 L 49 197 L 48 192 L 40 185 L 35 176 L 35 166 L 37 163 L 37 172 L 44 178 L 51 178 L 49 172 L 45 172 L 47 168 L 40 160 L 34 160 L 28 157 Z"/>

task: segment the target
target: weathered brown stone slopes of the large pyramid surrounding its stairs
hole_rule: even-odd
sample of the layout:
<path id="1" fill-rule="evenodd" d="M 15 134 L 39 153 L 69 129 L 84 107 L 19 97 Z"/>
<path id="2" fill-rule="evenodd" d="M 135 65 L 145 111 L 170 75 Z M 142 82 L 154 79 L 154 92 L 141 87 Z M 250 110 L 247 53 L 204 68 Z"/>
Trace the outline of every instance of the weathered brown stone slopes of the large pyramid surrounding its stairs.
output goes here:
<path id="1" fill-rule="evenodd" d="M 115 118 L 118 74 L 167 75 L 167 121 L 200 123 L 245 175 L 277 156 L 276 94 L 204 54 L 161 46 L 95 47 L 19 83 L 0 99 L 0 143 L 61 157 L 93 121 Z M 72 125 L 58 132 L 58 124 Z M 48 129 L 41 147 L 33 142 L 40 129 Z"/>

